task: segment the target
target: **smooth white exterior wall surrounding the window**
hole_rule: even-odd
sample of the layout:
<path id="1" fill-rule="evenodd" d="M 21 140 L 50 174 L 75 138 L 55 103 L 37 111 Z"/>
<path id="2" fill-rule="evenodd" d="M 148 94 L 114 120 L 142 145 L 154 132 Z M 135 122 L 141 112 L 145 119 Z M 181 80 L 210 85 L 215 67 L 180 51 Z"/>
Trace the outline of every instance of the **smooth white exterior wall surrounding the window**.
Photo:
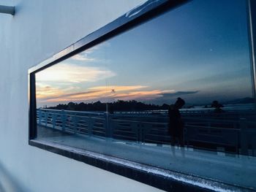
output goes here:
<path id="1" fill-rule="evenodd" d="M 0 191 L 158 191 L 28 145 L 28 69 L 145 0 L 0 0 Z"/>

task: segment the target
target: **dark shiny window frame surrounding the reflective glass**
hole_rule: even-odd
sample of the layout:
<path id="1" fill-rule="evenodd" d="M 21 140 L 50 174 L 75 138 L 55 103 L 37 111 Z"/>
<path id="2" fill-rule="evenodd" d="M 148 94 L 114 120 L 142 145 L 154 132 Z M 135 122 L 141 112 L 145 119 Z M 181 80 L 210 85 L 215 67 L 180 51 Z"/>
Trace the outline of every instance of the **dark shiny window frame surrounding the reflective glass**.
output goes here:
<path id="1" fill-rule="evenodd" d="M 37 137 L 37 108 L 36 108 L 36 86 L 35 74 L 43 69 L 48 68 L 54 64 L 58 64 L 64 59 L 71 57 L 77 53 L 87 50 L 94 45 L 104 42 L 111 37 L 115 37 L 124 31 L 129 30 L 141 23 L 150 20 L 163 12 L 181 6 L 191 0 L 149 0 L 145 4 L 132 9 L 120 18 L 99 28 L 92 34 L 80 39 L 78 42 L 61 50 L 56 55 L 48 58 L 37 66 L 29 69 L 29 145 L 39 147 L 42 150 L 48 150 L 52 153 L 64 155 L 67 158 L 73 158 L 77 161 L 82 161 L 91 166 L 96 166 L 106 171 L 120 174 L 132 180 L 137 180 L 141 183 L 154 186 L 165 191 L 218 191 L 218 190 L 246 190 L 248 188 L 241 188 L 239 186 L 228 185 L 214 180 L 207 180 L 202 177 L 196 177 L 188 174 L 173 172 L 171 170 L 159 169 L 157 167 L 139 164 L 132 161 L 127 161 L 121 158 L 112 157 L 109 155 L 102 155 L 88 150 L 79 150 L 74 147 L 67 147 L 64 145 L 57 145 L 52 142 L 45 142 Z M 255 93 L 255 58 L 256 58 L 256 2 L 246 0 L 248 2 L 248 27 L 249 40 L 251 48 L 252 61 L 252 82 Z"/>

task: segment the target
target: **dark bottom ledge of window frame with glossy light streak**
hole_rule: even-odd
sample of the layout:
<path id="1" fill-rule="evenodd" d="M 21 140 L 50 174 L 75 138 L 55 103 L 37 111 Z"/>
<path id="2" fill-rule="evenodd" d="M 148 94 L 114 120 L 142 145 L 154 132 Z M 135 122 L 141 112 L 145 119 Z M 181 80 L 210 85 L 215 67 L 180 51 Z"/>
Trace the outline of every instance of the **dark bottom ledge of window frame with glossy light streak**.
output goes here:
<path id="1" fill-rule="evenodd" d="M 128 177 L 132 180 L 137 180 L 138 182 L 165 191 L 253 191 L 249 188 L 227 185 L 214 180 L 206 180 L 189 174 L 172 172 L 146 164 L 139 164 L 113 156 L 58 145 L 39 139 L 29 140 L 29 145 L 63 155 L 67 158 L 82 161 L 91 166 L 96 166 L 100 169 Z"/>

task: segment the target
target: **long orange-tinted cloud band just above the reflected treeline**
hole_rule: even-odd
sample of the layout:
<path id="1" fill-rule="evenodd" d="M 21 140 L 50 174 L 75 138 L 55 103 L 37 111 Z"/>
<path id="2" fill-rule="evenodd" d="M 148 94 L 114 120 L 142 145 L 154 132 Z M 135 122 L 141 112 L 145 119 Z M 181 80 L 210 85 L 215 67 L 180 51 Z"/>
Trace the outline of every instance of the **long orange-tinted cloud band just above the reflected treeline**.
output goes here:
<path id="1" fill-rule="evenodd" d="M 176 99 L 178 96 L 195 94 L 198 91 L 150 90 L 144 85 L 109 85 L 88 88 L 85 91 L 74 92 L 74 89 L 60 90 L 49 85 L 40 85 L 37 88 L 37 98 L 40 102 L 91 102 L 91 101 L 116 101 L 137 100 L 152 101 L 162 104 Z"/>

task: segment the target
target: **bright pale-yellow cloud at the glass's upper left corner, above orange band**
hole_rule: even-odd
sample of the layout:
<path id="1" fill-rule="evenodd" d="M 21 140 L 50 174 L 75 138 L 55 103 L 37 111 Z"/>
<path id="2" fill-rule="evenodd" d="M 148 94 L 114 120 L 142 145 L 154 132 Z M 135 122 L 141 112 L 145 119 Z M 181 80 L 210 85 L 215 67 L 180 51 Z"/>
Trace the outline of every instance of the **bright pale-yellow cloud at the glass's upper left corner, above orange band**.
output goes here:
<path id="1" fill-rule="evenodd" d="M 36 74 L 37 82 L 95 82 L 113 77 L 116 74 L 99 67 L 76 64 L 57 64 Z"/>

